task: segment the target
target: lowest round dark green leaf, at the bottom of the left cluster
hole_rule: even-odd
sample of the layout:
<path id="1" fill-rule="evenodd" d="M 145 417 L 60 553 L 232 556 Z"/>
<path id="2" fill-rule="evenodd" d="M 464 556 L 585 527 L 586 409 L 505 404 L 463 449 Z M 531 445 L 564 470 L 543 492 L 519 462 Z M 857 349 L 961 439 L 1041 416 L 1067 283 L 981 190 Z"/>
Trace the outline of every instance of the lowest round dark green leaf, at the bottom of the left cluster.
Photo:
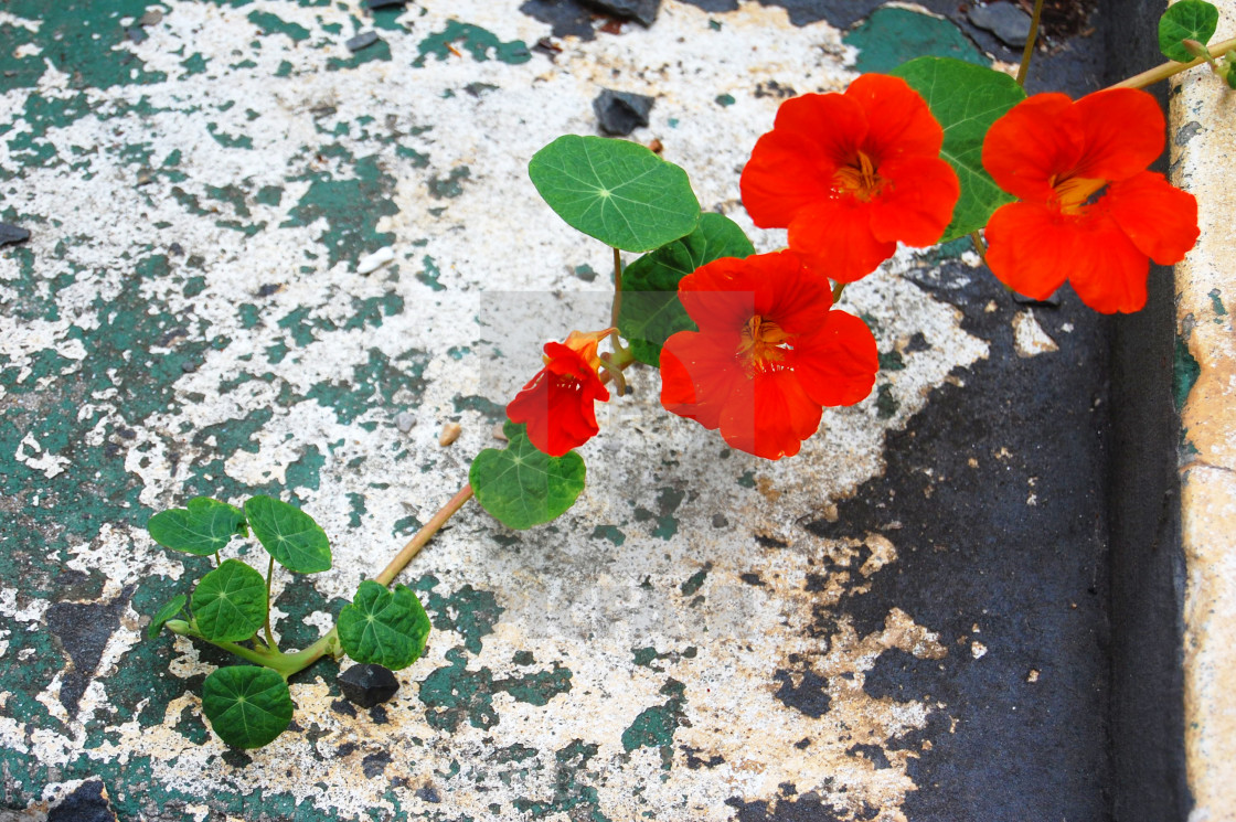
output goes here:
<path id="1" fill-rule="evenodd" d="M 229 745 L 261 748 L 292 722 L 292 695 L 277 671 L 234 665 L 215 670 L 201 684 L 201 710 Z"/>

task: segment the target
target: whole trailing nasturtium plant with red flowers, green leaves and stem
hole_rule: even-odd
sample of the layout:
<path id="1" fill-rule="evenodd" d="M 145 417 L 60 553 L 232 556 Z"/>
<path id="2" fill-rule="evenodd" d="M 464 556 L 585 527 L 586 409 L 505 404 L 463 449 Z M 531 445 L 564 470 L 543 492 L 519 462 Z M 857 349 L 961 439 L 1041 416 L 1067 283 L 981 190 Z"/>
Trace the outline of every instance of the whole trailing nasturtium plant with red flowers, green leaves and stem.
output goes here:
<path id="1" fill-rule="evenodd" d="M 178 595 L 158 609 L 148 635 L 167 630 L 250 663 L 208 676 L 203 710 L 227 744 L 265 745 L 292 719 L 288 679 L 320 658 L 405 667 L 424 653 L 428 614 L 414 591 L 387 586 L 470 498 L 515 529 L 548 523 L 575 503 L 586 468 L 574 449 L 599 433 L 595 403 L 625 393 L 623 372 L 633 363 L 661 368 L 667 412 L 776 460 L 798 452 L 823 408 L 870 394 L 875 339 L 837 303 L 899 244 L 928 247 L 970 235 L 988 267 L 1022 293 L 1046 295 L 1068 278 L 1098 310 L 1137 310 L 1136 300 L 1112 309 L 1091 298 L 1143 294 L 1148 260 L 1178 262 L 1198 227 L 1192 195 L 1143 171 L 1162 148 L 1164 124 L 1157 103 L 1133 89 L 1185 70 L 1194 52 L 1232 83 L 1236 41 L 1214 46 L 1224 66 L 1205 52 L 1216 20 L 1210 4 L 1182 0 L 1161 27 L 1164 53 L 1180 64 L 1075 103 L 1063 94 L 1026 96 L 1033 48 L 1016 79 L 925 57 L 895 77 L 860 77 L 844 93 L 784 101 L 739 180 L 753 222 L 787 231 L 789 247 L 772 253 L 756 255 L 726 216 L 701 216 L 686 172 L 650 150 L 591 136 L 554 140 L 528 173 L 559 216 L 612 247 L 608 324 L 545 344 L 543 367 L 507 404 L 507 446 L 476 456 L 468 485 L 376 581 L 358 586 L 336 625 L 308 648 L 279 650 L 269 622 L 272 575 L 276 562 L 297 574 L 329 570 L 330 540 L 309 514 L 263 496 L 243 509 L 199 497 L 150 519 L 157 543 L 213 557 L 215 567 L 192 597 Z M 1112 152 L 1121 162 L 1099 162 Z M 1117 166 L 1127 174 L 1115 174 Z M 1090 219 L 1090 209 L 1104 219 Z M 644 256 L 624 269 L 622 251 Z M 1057 279 L 1026 278 L 1036 271 Z M 221 556 L 236 536 L 250 535 L 269 553 L 265 578 Z"/>

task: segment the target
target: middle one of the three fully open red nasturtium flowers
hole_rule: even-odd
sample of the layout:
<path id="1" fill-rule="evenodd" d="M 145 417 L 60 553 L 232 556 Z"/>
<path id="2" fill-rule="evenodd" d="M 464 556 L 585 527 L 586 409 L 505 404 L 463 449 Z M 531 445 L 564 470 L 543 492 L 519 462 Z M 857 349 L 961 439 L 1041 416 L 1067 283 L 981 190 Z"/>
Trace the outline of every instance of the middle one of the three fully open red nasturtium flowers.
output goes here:
<path id="1" fill-rule="evenodd" d="M 899 241 L 929 246 L 944 234 L 962 189 L 939 158 L 943 141 L 905 80 L 864 74 L 844 94 L 781 104 L 743 169 L 743 205 L 761 229 L 789 229 L 807 265 L 854 282 Z"/>

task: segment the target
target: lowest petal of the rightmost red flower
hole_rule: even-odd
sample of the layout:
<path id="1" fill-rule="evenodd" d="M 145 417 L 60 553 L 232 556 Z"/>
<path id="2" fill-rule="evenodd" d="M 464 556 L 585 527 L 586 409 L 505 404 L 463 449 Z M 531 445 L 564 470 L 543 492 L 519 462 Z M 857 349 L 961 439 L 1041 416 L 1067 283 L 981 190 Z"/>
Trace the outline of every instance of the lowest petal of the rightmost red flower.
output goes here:
<path id="1" fill-rule="evenodd" d="M 1149 260 L 1116 221 L 1098 216 L 1085 221 L 1069 284 L 1082 302 L 1100 314 L 1131 314 L 1146 305 Z"/>

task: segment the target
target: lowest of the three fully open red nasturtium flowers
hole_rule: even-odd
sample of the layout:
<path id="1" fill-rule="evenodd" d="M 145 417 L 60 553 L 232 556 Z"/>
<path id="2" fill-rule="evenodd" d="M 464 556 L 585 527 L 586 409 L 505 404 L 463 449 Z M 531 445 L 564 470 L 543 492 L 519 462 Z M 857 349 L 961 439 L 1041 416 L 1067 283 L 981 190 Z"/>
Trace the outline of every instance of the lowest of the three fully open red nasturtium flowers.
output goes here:
<path id="1" fill-rule="evenodd" d="M 792 251 L 723 257 L 679 283 L 698 331 L 661 349 L 661 404 L 729 445 L 794 456 L 819 428 L 821 405 L 853 405 L 875 382 L 875 337 L 829 310 L 828 281 Z"/>

